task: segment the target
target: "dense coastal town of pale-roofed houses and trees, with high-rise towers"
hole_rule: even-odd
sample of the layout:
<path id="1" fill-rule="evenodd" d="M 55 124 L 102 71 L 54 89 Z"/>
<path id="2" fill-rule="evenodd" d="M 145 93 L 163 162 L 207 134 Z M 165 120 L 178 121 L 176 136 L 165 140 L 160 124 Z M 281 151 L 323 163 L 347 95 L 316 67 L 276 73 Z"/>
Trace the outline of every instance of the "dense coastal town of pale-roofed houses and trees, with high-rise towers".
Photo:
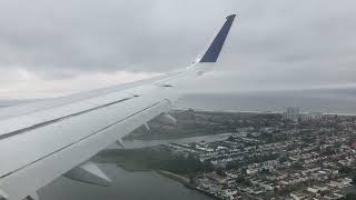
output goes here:
<path id="1" fill-rule="evenodd" d="M 308 116 L 251 116 L 224 141 L 168 147 L 214 167 L 192 182 L 219 199 L 339 199 L 356 178 L 356 117 Z"/>

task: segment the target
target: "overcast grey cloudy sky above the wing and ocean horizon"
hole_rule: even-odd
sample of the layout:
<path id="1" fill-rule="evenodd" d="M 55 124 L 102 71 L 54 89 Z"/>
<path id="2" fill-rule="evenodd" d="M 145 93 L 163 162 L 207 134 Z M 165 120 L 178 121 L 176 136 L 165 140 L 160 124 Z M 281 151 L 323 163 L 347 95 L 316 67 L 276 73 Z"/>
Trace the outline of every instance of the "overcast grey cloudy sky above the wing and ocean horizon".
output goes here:
<path id="1" fill-rule="evenodd" d="M 201 92 L 356 84 L 353 0 L 1 0 L 0 98 L 60 96 L 185 68 L 238 13 Z"/>

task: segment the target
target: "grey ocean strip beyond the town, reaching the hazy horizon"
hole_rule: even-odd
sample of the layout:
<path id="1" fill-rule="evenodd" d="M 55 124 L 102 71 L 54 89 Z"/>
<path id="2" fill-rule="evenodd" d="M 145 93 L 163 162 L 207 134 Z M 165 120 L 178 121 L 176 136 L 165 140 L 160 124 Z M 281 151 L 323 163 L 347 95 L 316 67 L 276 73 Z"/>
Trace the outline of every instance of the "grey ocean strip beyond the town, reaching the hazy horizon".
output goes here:
<path id="1" fill-rule="evenodd" d="M 258 112 L 280 112 L 287 107 L 298 107 L 305 112 L 356 114 L 356 89 L 195 93 L 182 97 L 175 107 L 197 110 Z"/>

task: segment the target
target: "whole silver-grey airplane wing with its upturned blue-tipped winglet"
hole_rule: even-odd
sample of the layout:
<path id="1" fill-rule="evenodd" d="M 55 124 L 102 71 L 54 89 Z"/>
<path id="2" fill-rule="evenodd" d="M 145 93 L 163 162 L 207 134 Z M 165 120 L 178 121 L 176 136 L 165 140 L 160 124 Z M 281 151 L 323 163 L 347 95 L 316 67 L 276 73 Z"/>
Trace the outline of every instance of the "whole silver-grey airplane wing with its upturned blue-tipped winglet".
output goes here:
<path id="1" fill-rule="evenodd" d="M 91 157 L 167 112 L 179 84 L 216 62 L 235 14 L 228 16 L 206 52 L 182 71 L 106 89 L 0 110 L 0 200 L 38 199 L 37 190 L 60 176 L 108 186 Z"/>

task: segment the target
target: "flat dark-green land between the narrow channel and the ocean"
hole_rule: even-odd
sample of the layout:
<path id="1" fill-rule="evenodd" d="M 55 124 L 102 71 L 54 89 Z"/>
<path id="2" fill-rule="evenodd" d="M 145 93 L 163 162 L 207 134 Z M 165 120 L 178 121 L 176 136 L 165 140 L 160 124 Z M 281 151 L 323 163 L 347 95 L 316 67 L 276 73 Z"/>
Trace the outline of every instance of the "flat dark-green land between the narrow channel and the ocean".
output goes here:
<path id="1" fill-rule="evenodd" d="M 177 119 L 176 126 L 165 126 L 152 120 L 149 122 L 149 132 L 140 127 L 123 137 L 123 140 L 166 140 L 236 132 L 237 128 L 246 127 L 246 119 L 258 118 L 255 112 L 215 112 L 191 109 L 174 110 L 170 114 Z M 263 116 L 266 114 L 269 118 L 279 118 L 279 114 L 274 113 Z"/>

